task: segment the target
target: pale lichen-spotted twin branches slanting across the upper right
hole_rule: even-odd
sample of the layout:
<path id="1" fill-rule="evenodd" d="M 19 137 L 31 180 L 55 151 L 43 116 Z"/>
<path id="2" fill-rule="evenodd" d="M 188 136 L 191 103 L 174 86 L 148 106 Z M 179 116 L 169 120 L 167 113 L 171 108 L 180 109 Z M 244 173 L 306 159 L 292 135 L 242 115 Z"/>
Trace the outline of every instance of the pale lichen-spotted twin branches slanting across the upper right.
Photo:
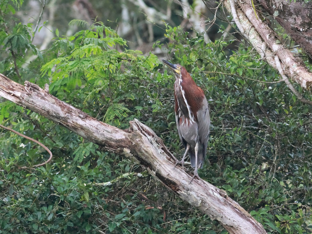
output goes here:
<path id="1" fill-rule="evenodd" d="M 275 31 L 269 27 L 269 23 L 262 21 L 264 18 L 255 11 L 249 1 L 226 0 L 223 2 L 227 11 L 233 19 L 243 36 L 247 38 L 252 46 L 257 50 L 262 58 L 275 69 L 277 69 L 275 56 L 278 56 L 283 74 L 291 80 L 297 82 L 304 89 L 312 88 L 312 73 L 299 58 L 283 45 L 282 40 Z M 296 94 L 298 95 L 298 93 Z M 312 104 L 310 100 L 305 100 L 298 96 L 302 101 Z"/>

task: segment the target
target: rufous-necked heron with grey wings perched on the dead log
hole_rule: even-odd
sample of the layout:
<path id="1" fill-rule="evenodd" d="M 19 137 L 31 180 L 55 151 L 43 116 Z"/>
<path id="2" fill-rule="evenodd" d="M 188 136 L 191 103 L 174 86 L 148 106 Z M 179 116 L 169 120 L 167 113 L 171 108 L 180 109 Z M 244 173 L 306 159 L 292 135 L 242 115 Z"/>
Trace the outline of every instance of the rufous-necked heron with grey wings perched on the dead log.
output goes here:
<path id="1" fill-rule="evenodd" d="M 174 82 L 174 111 L 180 140 L 185 148 L 181 161 L 184 167 L 184 159 L 188 154 L 191 158 L 191 166 L 194 175 L 199 178 L 197 169 L 202 168 L 208 144 L 210 115 L 207 99 L 204 91 L 196 85 L 186 69 L 179 64 L 172 64 L 166 60 L 163 62 L 169 66 L 175 75 Z"/>

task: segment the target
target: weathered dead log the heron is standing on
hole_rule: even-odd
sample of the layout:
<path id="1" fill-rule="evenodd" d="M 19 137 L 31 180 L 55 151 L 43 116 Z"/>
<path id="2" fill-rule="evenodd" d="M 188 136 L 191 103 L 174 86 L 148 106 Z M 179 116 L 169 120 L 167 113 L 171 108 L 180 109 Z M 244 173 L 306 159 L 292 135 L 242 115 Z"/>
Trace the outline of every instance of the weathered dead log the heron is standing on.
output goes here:
<path id="1" fill-rule="evenodd" d="M 176 158 L 152 129 L 138 120 L 130 121 L 127 130 L 105 124 L 28 81 L 20 85 L 0 74 L 0 96 L 59 123 L 105 150 L 133 158 L 145 166 L 165 186 L 229 233 L 266 233 L 248 212 L 227 196 L 226 192 L 203 180 L 194 179 L 181 167 L 174 168 Z"/>

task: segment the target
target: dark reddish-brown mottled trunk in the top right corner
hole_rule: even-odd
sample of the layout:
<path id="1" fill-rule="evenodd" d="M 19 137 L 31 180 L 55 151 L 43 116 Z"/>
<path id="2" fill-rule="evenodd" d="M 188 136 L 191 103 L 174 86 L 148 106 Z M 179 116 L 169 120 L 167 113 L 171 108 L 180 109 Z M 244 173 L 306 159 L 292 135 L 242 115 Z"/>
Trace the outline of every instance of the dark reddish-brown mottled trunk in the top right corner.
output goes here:
<path id="1" fill-rule="evenodd" d="M 262 7 L 312 58 L 312 2 L 258 0 Z"/>

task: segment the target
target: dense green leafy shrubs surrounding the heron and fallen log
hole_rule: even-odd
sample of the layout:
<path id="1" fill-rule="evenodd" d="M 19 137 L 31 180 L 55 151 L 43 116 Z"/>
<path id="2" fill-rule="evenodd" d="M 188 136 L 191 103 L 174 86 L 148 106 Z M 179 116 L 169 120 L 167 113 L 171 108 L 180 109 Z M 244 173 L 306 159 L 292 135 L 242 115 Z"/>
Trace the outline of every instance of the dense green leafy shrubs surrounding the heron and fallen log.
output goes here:
<path id="1" fill-rule="evenodd" d="M 31 43 L 30 25 L 4 18 L 3 9 L 14 13 L 14 8 L 3 2 L 1 22 L 14 25 L 0 34 L 4 75 L 41 87 L 49 83 L 52 95 L 121 129 L 137 118 L 182 156 L 174 77 L 153 51 L 143 56 L 127 50 L 125 40 L 98 23 L 70 37 L 56 35 L 40 52 Z M 278 82 L 279 74 L 248 46 L 225 54 L 234 40 L 206 45 L 180 27 L 166 28 L 168 57 L 185 66 L 211 99 L 208 155 L 199 175 L 227 191 L 268 233 L 311 233 L 311 107 Z M 22 66 L 29 53 L 37 60 Z M 31 168 L 47 152 L 1 130 L 0 233 L 226 233 L 140 165 L 0 100 L 0 124 L 38 139 L 54 155 L 50 164 Z M 94 184 L 116 178 L 109 186 Z"/>

